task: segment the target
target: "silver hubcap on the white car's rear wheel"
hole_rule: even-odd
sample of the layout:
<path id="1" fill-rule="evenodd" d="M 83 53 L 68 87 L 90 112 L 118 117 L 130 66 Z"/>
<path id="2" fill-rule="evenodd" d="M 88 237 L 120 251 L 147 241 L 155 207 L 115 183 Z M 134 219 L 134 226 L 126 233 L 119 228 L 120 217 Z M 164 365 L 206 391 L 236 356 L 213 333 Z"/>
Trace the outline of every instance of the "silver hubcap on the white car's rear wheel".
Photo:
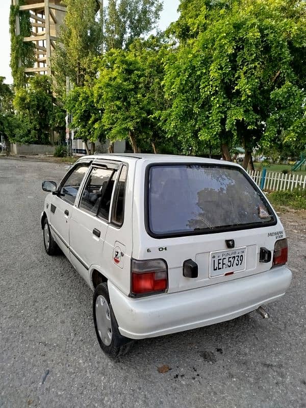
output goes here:
<path id="1" fill-rule="evenodd" d="M 100 339 L 106 346 L 109 346 L 112 342 L 112 323 L 110 308 L 107 303 L 107 300 L 104 296 L 99 295 L 96 298 L 95 303 L 95 314 L 96 314 L 96 323 L 97 330 L 100 336 Z"/>

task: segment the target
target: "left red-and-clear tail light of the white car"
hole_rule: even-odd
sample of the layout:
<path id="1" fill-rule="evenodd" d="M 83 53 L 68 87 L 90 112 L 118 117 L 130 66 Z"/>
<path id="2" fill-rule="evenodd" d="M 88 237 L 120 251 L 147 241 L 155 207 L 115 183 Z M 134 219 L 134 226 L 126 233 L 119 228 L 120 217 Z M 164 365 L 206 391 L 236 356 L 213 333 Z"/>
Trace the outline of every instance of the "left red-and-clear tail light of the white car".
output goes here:
<path id="1" fill-rule="evenodd" d="M 132 259 L 131 295 L 165 292 L 168 288 L 167 263 L 162 259 Z"/>

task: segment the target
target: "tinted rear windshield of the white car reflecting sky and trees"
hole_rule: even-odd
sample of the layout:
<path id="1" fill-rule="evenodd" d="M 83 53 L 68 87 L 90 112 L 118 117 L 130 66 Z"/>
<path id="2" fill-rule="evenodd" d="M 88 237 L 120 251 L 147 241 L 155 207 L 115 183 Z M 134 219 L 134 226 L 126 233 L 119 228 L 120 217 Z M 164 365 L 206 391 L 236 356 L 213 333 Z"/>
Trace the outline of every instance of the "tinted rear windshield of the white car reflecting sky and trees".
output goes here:
<path id="1" fill-rule="evenodd" d="M 271 207 L 234 166 L 153 165 L 147 226 L 152 236 L 205 234 L 273 225 Z"/>

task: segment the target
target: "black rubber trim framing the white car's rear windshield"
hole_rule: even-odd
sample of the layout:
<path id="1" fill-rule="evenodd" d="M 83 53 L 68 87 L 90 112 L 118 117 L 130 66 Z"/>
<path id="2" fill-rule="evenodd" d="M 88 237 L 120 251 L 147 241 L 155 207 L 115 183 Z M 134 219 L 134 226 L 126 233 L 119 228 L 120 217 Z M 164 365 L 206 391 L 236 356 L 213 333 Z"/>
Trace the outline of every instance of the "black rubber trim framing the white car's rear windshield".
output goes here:
<path id="1" fill-rule="evenodd" d="M 273 220 L 268 221 L 262 224 L 243 224 L 241 226 L 226 226 L 216 228 L 215 230 L 209 231 L 188 231 L 188 232 L 177 232 L 177 233 L 165 233 L 165 234 L 156 234 L 150 230 L 149 226 L 149 173 L 151 167 L 160 167 L 160 166 L 201 166 L 201 167 L 225 167 L 230 169 L 235 169 L 239 171 L 252 185 L 254 190 L 260 195 L 262 201 L 264 202 L 265 206 L 270 210 Z M 241 230 L 249 230 L 251 228 L 264 228 L 267 226 L 272 226 L 277 224 L 277 216 L 275 210 L 265 197 L 265 195 L 261 192 L 257 184 L 252 180 L 249 174 L 239 166 L 234 166 L 227 163 L 200 163 L 200 162 L 173 162 L 173 163 L 150 163 L 146 166 L 145 169 L 145 182 L 144 182 L 144 227 L 146 233 L 156 239 L 165 239 L 165 238 L 179 238 L 179 237 L 188 237 L 193 235 L 209 235 L 209 234 L 219 234 L 228 231 L 241 231 Z"/>

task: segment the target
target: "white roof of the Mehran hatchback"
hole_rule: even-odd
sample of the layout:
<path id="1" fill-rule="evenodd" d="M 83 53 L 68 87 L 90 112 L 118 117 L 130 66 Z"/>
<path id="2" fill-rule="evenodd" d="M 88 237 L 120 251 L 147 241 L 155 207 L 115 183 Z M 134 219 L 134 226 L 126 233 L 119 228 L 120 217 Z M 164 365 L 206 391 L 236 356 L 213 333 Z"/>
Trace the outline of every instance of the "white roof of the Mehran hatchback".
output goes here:
<path id="1" fill-rule="evenodd" d="M 125 158 L 143 160 L 149 163 L 203 163 L 203 164 L 218 164 L 225 165 L 230 164 L 234 166 L 241 167 L 239 164 L 233 162 L 227 162 L 224 160 L 208 159 L 205 157 L 195 157 L 195 156 L 179 156 L 179 155 L 160 155 L 160 154 L 149 154 L 149 153 L 109 153 L 109 154 L 98 154 L 83 156 L 79 159 L 82 160 L 94 160 L 95 162 L 99 159 L 101 160 L 124 160 Z"/>

